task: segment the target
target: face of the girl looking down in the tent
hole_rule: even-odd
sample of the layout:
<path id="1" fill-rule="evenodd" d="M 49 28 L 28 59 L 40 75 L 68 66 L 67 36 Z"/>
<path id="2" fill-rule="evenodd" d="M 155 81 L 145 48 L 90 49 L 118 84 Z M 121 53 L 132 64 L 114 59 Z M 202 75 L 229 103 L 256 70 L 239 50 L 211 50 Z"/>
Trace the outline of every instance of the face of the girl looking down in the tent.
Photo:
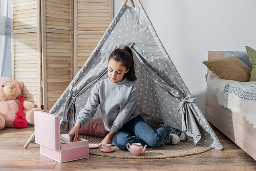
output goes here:
<path id="1" fill-rule="evenodd" d="M 128 72 L 129 69 L 126 71 L 126 68 L 121 66 L 120 62 L 117 62 L 113 59 L 109 61 L 108 64 L 108 75 L 110 80 L 114 83 L 120 82 L 123 80 L 123 75 Z"/>

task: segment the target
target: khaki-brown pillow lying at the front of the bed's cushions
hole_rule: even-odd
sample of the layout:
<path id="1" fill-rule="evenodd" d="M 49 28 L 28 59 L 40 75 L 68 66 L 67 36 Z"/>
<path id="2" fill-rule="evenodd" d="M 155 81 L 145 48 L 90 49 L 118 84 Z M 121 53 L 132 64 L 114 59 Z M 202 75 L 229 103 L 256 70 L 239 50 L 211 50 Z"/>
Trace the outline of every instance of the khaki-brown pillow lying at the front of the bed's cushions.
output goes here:
<path id="1" fill-rule="evenodd" d="M 203 61 L 204 65 L 222 79 L 240 82 L 249 81 L 251 69 L 237 56 Z"/>

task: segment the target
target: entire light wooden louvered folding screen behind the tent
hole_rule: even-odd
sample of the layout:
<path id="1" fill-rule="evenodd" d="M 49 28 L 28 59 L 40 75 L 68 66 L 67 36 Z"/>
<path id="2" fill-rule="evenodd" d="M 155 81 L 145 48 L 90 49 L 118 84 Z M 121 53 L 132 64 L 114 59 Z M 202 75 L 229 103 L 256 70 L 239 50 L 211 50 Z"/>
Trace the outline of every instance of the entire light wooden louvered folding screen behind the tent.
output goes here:
<path id="1" fill-rule="evenodd" d="M 113 19 L 113 0 L 12 0 L 12 78 L 48 112 Z"/>

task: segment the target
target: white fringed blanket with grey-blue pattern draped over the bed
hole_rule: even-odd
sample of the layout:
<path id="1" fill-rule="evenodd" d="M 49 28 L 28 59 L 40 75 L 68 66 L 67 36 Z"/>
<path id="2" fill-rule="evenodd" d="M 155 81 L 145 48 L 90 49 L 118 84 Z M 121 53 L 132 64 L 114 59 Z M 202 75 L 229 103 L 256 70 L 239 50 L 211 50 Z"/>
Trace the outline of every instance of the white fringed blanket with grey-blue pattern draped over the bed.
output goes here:
<path id="1" fill-rule="evenodd" d="M 225 80 L 209 72 L 207 84 L 220 105 L 245 117 L 256 128 L 256 82 Z"/>

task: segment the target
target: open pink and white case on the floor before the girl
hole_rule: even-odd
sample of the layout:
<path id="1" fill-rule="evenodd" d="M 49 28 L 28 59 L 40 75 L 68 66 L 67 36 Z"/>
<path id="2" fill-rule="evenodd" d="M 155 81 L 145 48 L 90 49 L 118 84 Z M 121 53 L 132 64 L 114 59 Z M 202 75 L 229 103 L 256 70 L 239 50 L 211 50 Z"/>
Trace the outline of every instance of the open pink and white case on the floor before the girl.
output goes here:
<path id="1" fill-rule="evenodd" d="M 89 157 L 88 140 L 78 138 L 72 146 L 60 143 L 59 116 L 46 112 L 35 113 L 35 143 L 40 144 L 40 154 L 63 163 Z"/>

